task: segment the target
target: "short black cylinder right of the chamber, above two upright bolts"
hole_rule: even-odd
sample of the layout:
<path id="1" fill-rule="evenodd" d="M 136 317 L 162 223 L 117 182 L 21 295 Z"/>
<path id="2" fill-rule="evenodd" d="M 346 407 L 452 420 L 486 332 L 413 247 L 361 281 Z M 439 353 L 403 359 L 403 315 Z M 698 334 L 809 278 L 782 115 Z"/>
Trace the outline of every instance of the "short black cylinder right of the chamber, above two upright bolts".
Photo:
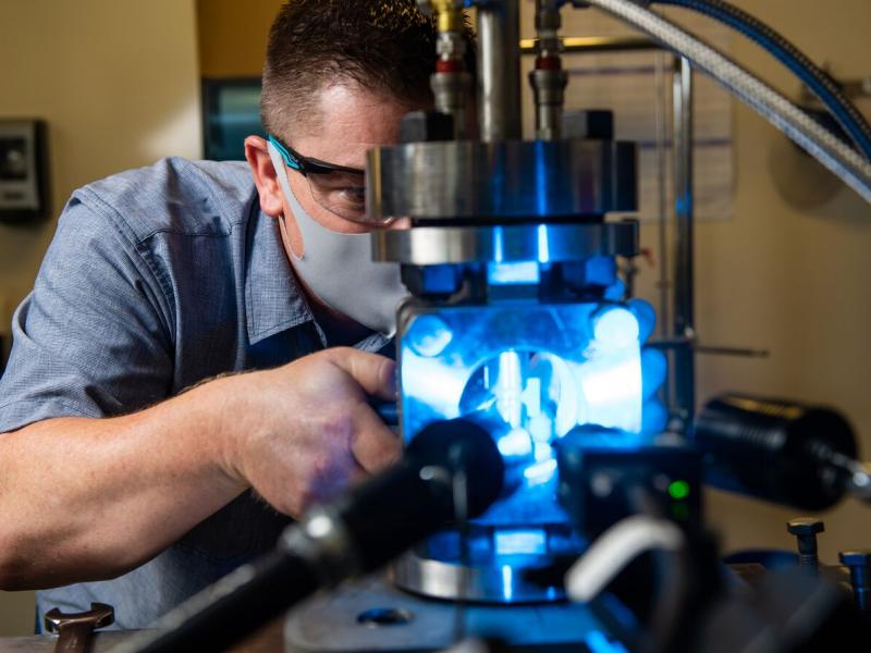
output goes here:
<path id="1" fill-rule="evenodd" d="M 727 394 L 695 422 L 704 481 L 802 510 L 822 510 L 845 493 L 837 459 L 856 457 L 856 438 L 830 408 Z"/>

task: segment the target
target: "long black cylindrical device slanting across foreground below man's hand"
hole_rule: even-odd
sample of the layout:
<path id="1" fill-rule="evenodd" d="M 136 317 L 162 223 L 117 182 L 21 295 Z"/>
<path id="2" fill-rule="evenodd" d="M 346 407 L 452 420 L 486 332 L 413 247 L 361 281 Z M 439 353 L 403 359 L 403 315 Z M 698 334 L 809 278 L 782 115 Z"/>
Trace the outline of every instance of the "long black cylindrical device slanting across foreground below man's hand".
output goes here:
<path id="1" fill-rule="evenodd" d="M 465 476 L 467 516 L 502 489 L 504 465 L 490 435 L 465 421 L 437 422 L 393 468 L 311 510 L 279 547 L 240 567 L 132 637 L 116 653 L 223 651 L 322 587 L 373 571 L 454 517 L 453 479 Z"/>

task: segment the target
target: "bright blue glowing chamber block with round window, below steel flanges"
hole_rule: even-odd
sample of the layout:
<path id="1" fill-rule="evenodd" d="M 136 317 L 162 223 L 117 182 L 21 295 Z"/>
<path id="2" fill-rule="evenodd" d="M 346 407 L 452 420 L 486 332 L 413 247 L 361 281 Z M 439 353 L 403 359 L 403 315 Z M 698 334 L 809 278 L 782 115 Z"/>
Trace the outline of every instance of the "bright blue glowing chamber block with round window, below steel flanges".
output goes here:
<path id="1" fill-rule="evenodd" d="M 611 444 L 637 443 L 642 395 L 635 313 L 610 301 L 440 306 L 409 299 L 398 318 L 403 436 L 465 417 L 491 433 L 505 459 L 503 497 L 474 525 L 486 540 L 479 562 L 573 549 L 556 502 L 554 445 L 584 424 L 614 429 Z M 427 557 L 455 554 L 450 538 L 427 544 Z"/>

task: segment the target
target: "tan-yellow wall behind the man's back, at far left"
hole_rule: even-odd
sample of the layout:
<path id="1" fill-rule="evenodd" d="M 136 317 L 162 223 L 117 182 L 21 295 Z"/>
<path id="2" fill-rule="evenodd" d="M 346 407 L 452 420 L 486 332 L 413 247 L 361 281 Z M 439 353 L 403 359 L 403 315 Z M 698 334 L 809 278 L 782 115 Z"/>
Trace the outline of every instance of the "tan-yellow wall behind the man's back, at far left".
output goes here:
<path id="1" fill-rule="evenodd" d="M 194 0 L 3 0 L 0 118 L 49 126 L 52 218 L 0 225 L 0 333 L 33 285 L 77 186 L 201 152 Z M 28 593 L 0 593 L 0 636 L 33 629 Z"/>

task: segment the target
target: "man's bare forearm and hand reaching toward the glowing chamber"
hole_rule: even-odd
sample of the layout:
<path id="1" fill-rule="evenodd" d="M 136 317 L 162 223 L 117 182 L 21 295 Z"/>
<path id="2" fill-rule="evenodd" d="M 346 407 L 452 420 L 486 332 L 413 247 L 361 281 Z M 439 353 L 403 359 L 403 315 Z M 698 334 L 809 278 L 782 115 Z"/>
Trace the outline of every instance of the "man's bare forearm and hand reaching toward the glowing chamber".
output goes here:
<path id="1" fill-rule="evenodd" d="M 298 516 L 398 456 L 366 403 L 393 398 L 393 369 L 329 349 L 134 415 L 0 435 L 0 589 L 120 575 L 249 486 Z"/>

